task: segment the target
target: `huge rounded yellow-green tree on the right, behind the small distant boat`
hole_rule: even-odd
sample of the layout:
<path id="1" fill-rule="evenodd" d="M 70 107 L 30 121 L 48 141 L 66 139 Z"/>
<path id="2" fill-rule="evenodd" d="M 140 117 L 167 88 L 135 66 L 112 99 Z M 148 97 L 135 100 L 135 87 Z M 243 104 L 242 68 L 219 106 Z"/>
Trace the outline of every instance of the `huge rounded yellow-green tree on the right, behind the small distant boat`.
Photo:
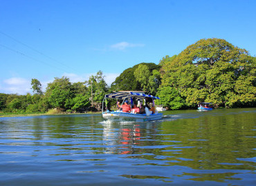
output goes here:
<path id="1" fill-rule="evenodd" d="M 223 39 L 201 39 L 163 64 L 161 87 L 174 87 L 193 107 L 255 104 L 255 58 Z"/>

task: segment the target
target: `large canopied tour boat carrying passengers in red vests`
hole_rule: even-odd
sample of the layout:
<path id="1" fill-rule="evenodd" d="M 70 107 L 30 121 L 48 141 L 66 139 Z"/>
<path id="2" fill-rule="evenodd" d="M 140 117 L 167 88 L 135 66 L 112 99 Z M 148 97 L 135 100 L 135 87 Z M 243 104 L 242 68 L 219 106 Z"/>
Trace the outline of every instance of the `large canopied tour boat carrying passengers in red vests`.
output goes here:
<path id="1" fill-rule="evenodd" d="M 156 96 L 152 96 L 149 94 L 144 94 L 144 92 L 138 92 L 138 91 L 119 91 L 119 92 L 113 92 L 111 94 L 106 94 L 104 96 L 104 99 L 102 101 L 102 117 L 108 121 L 111 122 L 145 122 L 145 121 L 154 121 L 161 119 L 163 117 L 162 113 L 158 113 L 157 111 L 152 114 L 151 111 L 147 110 L 145 108 L 146 114 L 139 114 L 136 112 L 122 112 L 121 107 L 119 110 L 112 111 L 107 106 L 107 111 L 104 111 L 104 104 L 108 105 L 107 101 L 109 99 L 116 99 L 122 100 L 122 105 L 125 104 L 125 102 L 129 102 L 129 105 L 133 105 L 133 103 L 137 102 L 138 105 L 142 103 L 142 105 L 145 105 L 146 101 L 151 101 L 151 103 L 154 105 L 154 100 L 160 99 Z M 121 105 L 121 106 L 122 106 Z M 131 107 L 131 106 L 130 106 Z"/>

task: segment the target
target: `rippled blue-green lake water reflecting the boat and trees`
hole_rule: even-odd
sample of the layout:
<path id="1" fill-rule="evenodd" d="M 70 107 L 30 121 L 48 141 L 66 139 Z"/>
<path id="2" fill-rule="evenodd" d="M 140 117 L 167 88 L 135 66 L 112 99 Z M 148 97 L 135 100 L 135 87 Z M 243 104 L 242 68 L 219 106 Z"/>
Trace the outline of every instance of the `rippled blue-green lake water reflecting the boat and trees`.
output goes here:
<path id="1" fill-rule="evenodd" d="M 0 185 L 256 185 L 256 108 L 0 118 Z"/>

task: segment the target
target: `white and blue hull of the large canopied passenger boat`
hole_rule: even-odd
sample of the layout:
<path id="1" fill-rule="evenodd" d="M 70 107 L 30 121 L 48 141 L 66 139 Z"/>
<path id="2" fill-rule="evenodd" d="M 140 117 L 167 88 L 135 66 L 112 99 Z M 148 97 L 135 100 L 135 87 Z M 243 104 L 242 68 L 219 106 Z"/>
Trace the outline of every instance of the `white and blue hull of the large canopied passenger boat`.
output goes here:
<path id="1" fill-rule="evenodd" d="M 146 114 L 132 114 L 127 112 L 102 112 L 102 116 L 104 119 L 116 122 L 145 122 L 161 119 L 163 114 L 158 113 L 147 116 Z"/>

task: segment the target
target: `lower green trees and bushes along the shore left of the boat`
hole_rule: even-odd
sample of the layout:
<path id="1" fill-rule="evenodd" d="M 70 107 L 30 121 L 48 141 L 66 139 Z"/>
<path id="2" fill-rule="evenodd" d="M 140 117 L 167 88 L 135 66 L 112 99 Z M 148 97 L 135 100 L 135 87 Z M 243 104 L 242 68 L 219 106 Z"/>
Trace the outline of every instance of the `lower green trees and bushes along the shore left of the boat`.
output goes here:
<path id="1" fill-rule="evenodd" d="M 49 109 L 84 112 L 91 106 L 101 110 L 102 99 L 108 91 L 101 71 L 91 76 L 89 81 L 78 83 L 71 83 L 66 76 L 55 78 L 48 83 L 46 92 L 42 92 L 42 85 L 37 79 L 32 79 L 31 85 L 33 95 L 0 94 L 0 110 L 15 113 L 43 113 Z"/>

